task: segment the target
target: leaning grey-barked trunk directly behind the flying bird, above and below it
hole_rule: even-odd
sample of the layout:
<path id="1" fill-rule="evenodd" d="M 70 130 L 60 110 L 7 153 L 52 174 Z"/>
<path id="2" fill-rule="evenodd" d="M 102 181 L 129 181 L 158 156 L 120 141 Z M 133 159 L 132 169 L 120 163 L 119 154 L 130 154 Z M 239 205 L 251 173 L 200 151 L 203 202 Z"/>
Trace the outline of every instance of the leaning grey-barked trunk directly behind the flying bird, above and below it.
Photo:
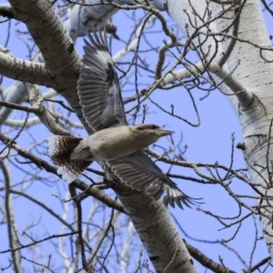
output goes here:
<path id="1" fill-rule="evenodd" d="M 66 97 L 86 130 L 90 132 L 90 128 L 86 126 L 83 119 L 76 94 L 80 58 L 50 2 L 13 0 L 10 3 L 17 11 L 15 18 L 25 22 L 30 34 L 34 36 L 35 43 L 44 56 L 48 73 L 56 79 L 58 85 L 56 91 Z M 40 20 L 41 17 L 44 18 L 43 21 Z M 157 272 L 197 272 L 184 241 L 179 236 L 162 200 L 155 202 L 145 193 L 133 192 L 127 187 L 116 186 L 115 190 L 126 207 L 127 214 L 132 218 L 139 238 L 147 249 Z"/>

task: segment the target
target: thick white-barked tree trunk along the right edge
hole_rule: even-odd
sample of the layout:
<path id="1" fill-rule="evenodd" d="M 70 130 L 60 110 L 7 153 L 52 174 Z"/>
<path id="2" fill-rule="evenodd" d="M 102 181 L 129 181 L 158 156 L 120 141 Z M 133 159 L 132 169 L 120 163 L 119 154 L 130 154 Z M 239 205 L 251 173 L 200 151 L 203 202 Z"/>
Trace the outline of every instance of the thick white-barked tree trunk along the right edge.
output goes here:
<path id="1" fill-rule="evenodd" d="M 195 12 L 201 17 L 204 15 L 204 11 L 207 8 L 206 1 L 191 0 L 190 5 L 194 6 Z M 192 7 L 187 0 L 169 0 L 167 1 L 167 11 L 169 15 L 174 19 L 177 25 L 184 31 L 184 34 L 188 33 L 192 35 L 196 30 L 190 26 L 188 17 L 185 15 L 185 10 L 194 21 L 194 15 Z M 226 6 L 227 7 L 227 6 Z M 217 17 L 222 12 L 222 5 L 213 4 L 210 6 L 210 11 L 213 16 Z M 184 15 L 181 15 L 184 13 Z M 231 15 L 230 12 L 227 15 Z M 206 20 L 205 20 L 206 21 Z M 212 33 L 217 34 L 221 30 L 226 29 L 230 25 L 231 20 L 217 19 L 216 22 L 211 23 L 209 28 Z M 203 25 L 203 23 L 197 19 L 197 26 Z M 199 29 L 199 32 L 206 33 L 206 27 Z M 189 36 L 190 36 L 189 35 Z M 229 29 L 227 35 L 232 35 L 232 28 Z M 201 35 L 202 36 L 202 35 Z M 200 49 L 208 53 L 206 59 L 209 60 L 215 51 L 215 40 L 208 37 L 203 41 L 205 42 Z M 218 35 L 219 41 L 223 37 Z M 221 91 L 227 94 L 234 93 L 237 96 L 227 96 L 235 112 L 238 114 L 238 118 L 242 125 L 242 131 L 244 136 L 244 143 L 246 149 L 244 150 L 244 156 L 248 162 L 248 170 L 252 177 L 253 183 L 260 185 L 258 190 L 268 197 L 267 200 L 260 202 L 258 198 L 258 206 L 266 206 L 266 209 L 260 208 L 261 211 L 261 224 L 264 229 L 264 237 L 267 240 L 268 249 L 273 257 L 273 245 L 272 245 L 272 197 L 273 190 L 270 185 L 270 178 L 268 174 L 272 172 L 272 137 L 269 134 L 270 122 L 273 118 L 273 94 L 271 92 L 273 88 L 273 64 L 270 61 L 273 59 L 271 51 L 271 43 L 269 40 L 268 31 L 264 23 L 261 8 L 257 0 L 248 0 L 242 8 L 240 13 L 240 19 L 238 24 L 238 41 L 232 45 L 232 50 L 227 57 L 227 61 L 224 69 L 232 75 L 234 81 L 239 83 L 239 86 L 243 86 L 245 89 L 245 96 L 241 96 L 238 93 L 237 88 L 232 88 L 228 85 L 228 78 L 225 83 L 220 85 Z M 248 41 L 259 47 L 270 50 L 263 50 L 262 56 L 268 60 L 262 59 L 260 56 L 260 49 L 257 46 L 250 45 Z M 197 38 L 193 39 L 195 45 L 199 45 Z M 227 51 L 230 43 L 230 38 L 225 38 L 224 41 L 218 43 L 218 49 L 216 57 L 213 61 L 217 62 L 223 52 Z M 208 51 L 208 48 L 210 48 Z M 200 49 L 198 49 L 199 54 Z M 221 79 L 215 72 L 214 80 L 216 83 L 220 83 Z M 225 115 L 225 113 L 219 113 L 219 115 Z M 260 197 L 260 196 L 257 196 Z"/>

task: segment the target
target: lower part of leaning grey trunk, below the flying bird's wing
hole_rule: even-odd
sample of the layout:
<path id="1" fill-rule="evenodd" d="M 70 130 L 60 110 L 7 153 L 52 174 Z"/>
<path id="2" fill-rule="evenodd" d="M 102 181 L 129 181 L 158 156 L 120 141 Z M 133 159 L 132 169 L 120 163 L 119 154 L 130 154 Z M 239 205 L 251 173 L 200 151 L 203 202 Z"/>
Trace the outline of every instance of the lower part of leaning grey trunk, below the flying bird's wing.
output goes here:
<path id="1" fill-rule="evenodd" d="M 157 272 L 197 272 L 193 259 L 162 200 L 145 193 L 116 191 Z M 183 213 L 183 212 L 182 212 Z"/>

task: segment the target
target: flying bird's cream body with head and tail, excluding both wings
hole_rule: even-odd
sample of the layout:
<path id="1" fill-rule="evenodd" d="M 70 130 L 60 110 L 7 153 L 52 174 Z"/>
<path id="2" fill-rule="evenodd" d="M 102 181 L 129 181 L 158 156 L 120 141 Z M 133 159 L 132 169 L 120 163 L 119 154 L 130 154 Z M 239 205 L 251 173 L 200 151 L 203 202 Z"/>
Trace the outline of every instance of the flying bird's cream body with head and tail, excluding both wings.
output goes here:
<path id="1" fill-rule="evenodd" d="M 102 129 L 86 138 L 53 135 L 48 137 L 48 151 L 53 162 L 59 166 L 57 173 L 71 183 L 91 161 L 104 162 L 126 157 L 173 133 L 156 125 L 141 124 Z"/>

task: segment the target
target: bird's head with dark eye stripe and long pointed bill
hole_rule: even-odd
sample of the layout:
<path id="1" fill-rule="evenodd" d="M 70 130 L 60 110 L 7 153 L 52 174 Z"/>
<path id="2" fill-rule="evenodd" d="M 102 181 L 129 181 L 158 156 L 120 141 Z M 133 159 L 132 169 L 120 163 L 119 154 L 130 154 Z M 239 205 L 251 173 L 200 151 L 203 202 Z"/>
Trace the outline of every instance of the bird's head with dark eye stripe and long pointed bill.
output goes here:
<path id="1" fill-rule="evenodd" d="M 157 140 L 162 136 L 169 136 L 175 133 L 174 131 L 168 131 L 153 124 L 132 126 L 132 132 L 137 136 L 139 141 L 143 142 L 143 147 L 147 147 L 157 142 Z"/>

